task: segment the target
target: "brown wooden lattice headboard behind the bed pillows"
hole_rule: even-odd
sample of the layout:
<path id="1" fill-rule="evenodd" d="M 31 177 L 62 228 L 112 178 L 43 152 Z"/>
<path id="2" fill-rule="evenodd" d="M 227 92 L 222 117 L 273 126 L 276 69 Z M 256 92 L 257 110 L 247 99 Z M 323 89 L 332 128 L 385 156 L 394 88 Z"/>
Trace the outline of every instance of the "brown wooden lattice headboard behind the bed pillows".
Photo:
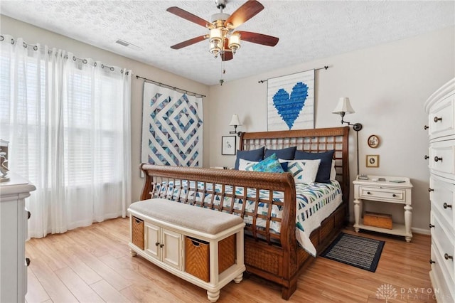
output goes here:
<path id="1" fill-rule="evenodd" d="M 334 149 L 336 179 L 343 190 L 343 201 L 349 203 L 349 127 L 296 129 L 275 132 L 242 132 L 240 150 L 283 149 L 297 147 L 306 152 Z"/>

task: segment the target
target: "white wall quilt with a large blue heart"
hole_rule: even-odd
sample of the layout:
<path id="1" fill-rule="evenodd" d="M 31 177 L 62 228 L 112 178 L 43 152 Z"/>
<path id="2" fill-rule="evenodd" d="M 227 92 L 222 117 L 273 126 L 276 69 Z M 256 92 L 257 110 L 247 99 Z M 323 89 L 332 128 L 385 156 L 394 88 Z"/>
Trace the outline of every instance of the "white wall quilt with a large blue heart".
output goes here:
<path id="1" fill-rule="evenodd" d="M 267 80 L 267 129 L 314 128 L 314 70 Z"/>

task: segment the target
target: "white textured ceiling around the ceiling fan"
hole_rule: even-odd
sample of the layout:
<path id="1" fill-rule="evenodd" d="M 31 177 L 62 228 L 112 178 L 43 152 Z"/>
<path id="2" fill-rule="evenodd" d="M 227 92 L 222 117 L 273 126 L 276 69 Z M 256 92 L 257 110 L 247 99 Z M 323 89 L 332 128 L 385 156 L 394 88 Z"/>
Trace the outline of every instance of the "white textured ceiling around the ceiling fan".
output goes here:
<path id="1" fill-rule="evenodd" d="M 234 59 L 225 63 L 224 75 L 220 58 L 208 52 L 208 41 L 170 48 L 207 30 L 166 9 L 178 6 L 209 20 L 219 12 L 214 0 L 2 0 L 0 12 L 207 85 L 455 25 L 455 1 L 259 1 L 265 9 L 238 29 L 276 36 L 279 42 L 273 48 L 243 42 Z M 232 14 L 244 2 L 228 1 L 224 12 Z M 117 39 L 139 48 L 120 46 Z M 40 41 L 36 37 L 27 42 Z"/>

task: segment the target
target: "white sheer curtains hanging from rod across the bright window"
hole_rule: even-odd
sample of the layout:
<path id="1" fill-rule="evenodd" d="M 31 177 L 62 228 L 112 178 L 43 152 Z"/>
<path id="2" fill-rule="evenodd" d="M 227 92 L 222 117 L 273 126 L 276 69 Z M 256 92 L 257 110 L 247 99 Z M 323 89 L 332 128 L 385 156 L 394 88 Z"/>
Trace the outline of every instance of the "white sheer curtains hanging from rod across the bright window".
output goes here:
<path id="1" fill-rule="evenodd" d="M 29 236 L 126 216 L 131 71 L 6 35 L 0 47 L 0 138 L 36 186 Z"/>

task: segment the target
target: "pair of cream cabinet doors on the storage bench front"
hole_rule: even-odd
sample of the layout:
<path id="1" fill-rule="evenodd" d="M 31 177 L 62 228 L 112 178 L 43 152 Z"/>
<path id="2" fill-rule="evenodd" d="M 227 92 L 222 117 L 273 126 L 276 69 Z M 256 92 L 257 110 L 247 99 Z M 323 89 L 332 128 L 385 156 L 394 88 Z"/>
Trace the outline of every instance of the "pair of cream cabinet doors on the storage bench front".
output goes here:
<path id="1" fill-rule="evenodd" d="M 183 237 L 181 233 L 145 223 L 145 251 L 151 257 L 178 270 L 183 270 Z"/>

